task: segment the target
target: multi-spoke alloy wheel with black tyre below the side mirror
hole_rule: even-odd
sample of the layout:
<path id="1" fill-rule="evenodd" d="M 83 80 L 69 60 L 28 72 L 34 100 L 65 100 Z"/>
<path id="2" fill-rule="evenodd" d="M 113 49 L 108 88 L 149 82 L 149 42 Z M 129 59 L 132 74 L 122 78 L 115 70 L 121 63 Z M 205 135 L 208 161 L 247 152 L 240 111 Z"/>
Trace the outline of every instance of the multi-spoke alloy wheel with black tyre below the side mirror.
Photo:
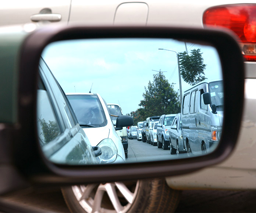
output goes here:
<path id="1" fill-rule="evenodd" d="M 71 212 L 174 212 L 181 191 L 162 178 L 62 188 Z"/>

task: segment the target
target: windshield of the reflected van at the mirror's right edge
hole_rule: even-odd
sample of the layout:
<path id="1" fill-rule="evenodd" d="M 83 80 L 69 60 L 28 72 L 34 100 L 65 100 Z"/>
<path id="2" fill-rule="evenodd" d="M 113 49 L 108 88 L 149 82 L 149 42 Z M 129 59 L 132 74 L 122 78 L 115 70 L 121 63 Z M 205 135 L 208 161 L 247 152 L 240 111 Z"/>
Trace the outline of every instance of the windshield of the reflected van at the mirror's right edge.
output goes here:
<path id="1" fill-rule="evenodd" d="M 211 94 L 211 102 L 215 104 L 217 108 L 223 107 L 224 91 L 223 81 L 216 81 L 209 83 L 209 92 Z"/>

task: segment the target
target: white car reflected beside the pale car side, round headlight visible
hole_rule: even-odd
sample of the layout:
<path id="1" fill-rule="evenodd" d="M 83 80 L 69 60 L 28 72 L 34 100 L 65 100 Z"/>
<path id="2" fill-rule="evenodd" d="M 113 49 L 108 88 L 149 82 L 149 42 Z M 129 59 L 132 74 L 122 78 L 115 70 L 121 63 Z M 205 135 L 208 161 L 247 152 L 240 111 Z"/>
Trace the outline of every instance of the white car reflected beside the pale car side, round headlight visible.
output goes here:
<path id="1" fill-rule="evenodd" d="M 115 131 L 103 98 L 93 93 L 67 93 L 66 95 L 91 145 L 96 146 L 100 141 L 108 138 L 109 146 L 101 147 L 102 153 L 109 158 L 115 152 L 114 147 L 116 147 L 115 162 L 125 162 L 122 142 Z"/>

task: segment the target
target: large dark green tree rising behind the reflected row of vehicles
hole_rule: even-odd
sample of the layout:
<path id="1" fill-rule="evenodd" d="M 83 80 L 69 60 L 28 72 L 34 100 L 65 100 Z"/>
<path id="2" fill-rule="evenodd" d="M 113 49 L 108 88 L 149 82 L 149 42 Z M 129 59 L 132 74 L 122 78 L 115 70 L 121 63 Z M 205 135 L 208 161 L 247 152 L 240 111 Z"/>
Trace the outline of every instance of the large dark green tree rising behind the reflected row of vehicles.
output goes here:
<path id="1" fill-rule="evenodd" d="M 131 112 L 134 124 L 154 115 L 180 112 L 179 93 L 174 90 L 162 72 L 153 75 L 153 82 L 148 83 L 141 100 L 141 108 Z"/>

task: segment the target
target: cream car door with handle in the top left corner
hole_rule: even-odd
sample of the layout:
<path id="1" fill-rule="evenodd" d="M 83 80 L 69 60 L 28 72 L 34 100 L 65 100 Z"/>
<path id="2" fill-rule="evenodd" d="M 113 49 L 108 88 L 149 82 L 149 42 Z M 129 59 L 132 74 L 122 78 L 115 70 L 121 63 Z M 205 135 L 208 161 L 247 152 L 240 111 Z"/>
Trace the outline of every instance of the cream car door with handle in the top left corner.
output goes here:
<path id="1" fill-rule="evenodd" d="M 8 0 L 0 7 L 0 26 L 38 22 L 68 22 L 71 0 Z"/>

